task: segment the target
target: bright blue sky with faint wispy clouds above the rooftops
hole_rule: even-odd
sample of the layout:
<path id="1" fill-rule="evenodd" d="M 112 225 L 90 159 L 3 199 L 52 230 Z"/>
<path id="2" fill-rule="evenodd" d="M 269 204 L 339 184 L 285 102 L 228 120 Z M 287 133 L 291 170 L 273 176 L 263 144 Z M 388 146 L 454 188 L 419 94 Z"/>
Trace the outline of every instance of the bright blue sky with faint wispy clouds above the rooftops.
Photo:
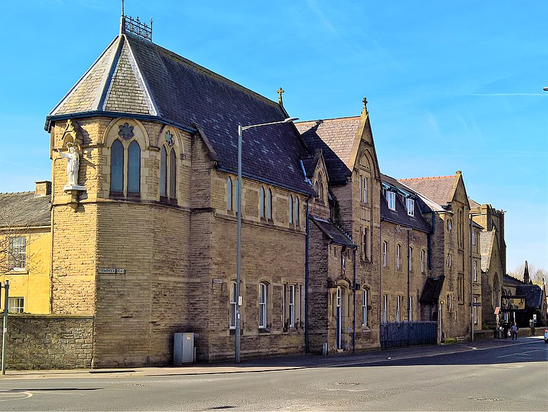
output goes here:
<path id="1" fill-rule="evenodd" d="M 0 192 L 50 179 L 46 115 L 119 30 L 117 0 L 4 2 Z M 508 270 L 548 269 L 547 1 L 141 1 L 153 40 L 276 100 L 291 116 L 359 115 L 381 171 L 462 170 L 507 211 Z"/>

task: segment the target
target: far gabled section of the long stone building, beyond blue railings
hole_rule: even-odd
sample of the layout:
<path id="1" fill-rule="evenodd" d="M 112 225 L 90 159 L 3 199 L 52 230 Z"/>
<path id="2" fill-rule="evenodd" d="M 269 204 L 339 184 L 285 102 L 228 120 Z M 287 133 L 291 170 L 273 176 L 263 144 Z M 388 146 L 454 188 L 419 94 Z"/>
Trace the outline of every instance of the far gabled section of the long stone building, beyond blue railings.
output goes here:
<path id="1" fill-rule="evenodd" d="M 481 227 L 468 217 L 470 204 L 462 174 L 400 179 L 430 207 L 431 279 L 425 299 L 438 319 L 440 338 L 467 337 L 470 325 L 481 330 Z M 472 291 L 470 292 L 470 286 Z M 426 299 L 426 296 L 428 299 Z"/>

